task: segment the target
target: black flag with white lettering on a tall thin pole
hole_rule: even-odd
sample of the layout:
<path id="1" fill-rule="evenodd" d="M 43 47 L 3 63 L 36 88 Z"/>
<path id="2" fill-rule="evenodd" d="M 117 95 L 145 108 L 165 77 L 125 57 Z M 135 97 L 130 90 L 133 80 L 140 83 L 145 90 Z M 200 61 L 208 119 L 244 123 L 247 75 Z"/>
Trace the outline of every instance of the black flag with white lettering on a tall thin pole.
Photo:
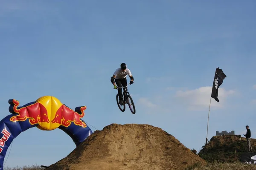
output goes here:
<path id="1" fill-rule="evenodd" d="M 221 69 L 219 69 L 219 67 L 216 68 L 213 85 L 212 85 L 212 98 L 215 99 L 217 102 L 219 102 L 218 88 L 221 86 L 221 84 L 223 83 L 223 80 L 226 77 L 227 76 L 223 73 Z"/>

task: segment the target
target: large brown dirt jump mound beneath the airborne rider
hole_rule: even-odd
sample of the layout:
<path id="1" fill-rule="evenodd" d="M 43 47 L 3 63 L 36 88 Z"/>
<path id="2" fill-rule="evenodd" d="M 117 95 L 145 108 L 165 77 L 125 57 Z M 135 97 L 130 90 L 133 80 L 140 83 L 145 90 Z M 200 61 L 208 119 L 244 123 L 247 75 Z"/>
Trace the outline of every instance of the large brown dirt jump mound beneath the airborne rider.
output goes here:
<path id="1" fill-rule="evenodd" d="M 206 163 L 158 127 L 111 124 L 47 170 L 183 170 L 197 162 Z"/>

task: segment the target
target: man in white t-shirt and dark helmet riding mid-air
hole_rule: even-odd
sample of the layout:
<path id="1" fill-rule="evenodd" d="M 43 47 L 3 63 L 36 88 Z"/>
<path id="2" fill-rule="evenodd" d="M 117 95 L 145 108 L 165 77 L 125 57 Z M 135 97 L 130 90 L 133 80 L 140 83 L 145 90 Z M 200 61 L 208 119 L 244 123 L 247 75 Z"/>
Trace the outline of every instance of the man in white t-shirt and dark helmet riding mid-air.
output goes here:
<path id="1" fill-rule="evenodd" d="M 131 71 L 126 67 L 125 63 L 122 63 L 120 65 L 120 68 L 117 68 L 114 72 L 113 76 L 111 77 L 111 82 L 114 85 L 114 89 L 116 89 L 116 85 L 118 87 L 125 87 L 127 86 L 127 79 L 126 76 L 129 76 L 131 81 L 130 85 L 134 83 L 134 77 L 131 75 Z M 126 88 L 127 90 L 127 88 Z M 122 88 L 118 89 L 118 95 L 119 95 L 119 104 L 124 105 L 124 101 L 122 99 Z"/>

